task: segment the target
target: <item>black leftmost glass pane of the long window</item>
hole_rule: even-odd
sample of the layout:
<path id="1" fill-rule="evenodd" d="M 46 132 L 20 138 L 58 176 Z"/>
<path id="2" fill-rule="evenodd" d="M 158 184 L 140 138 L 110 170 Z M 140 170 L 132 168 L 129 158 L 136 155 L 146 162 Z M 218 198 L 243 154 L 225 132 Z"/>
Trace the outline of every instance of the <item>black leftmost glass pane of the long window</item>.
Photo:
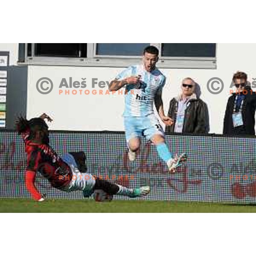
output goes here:
<path id="1" fill-rule="evenodd" d="M 83 57 L 87 55 L 87 44 L 35 44 L 35 56 Z"/>

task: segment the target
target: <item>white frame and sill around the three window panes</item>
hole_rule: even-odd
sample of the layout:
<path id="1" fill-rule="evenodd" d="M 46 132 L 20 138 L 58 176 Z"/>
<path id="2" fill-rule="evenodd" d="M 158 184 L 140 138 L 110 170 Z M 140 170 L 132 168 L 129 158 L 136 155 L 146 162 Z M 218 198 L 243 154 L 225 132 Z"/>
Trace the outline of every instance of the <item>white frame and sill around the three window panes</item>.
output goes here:
<path id="1" fill-rule="evenodd" d="M 19 65 L 42 66 L 79 66 L 79 67 L 128 67 L 141 63 L 141 56 L 121 55 L 96 55 L 96 44 L 87 43 L 87 58 L 85 57 L 46 57 L 35 56 L 35 44 L 32 43 L 31 56 L 27 55 L 28 44 L 24 44 L 23 61 Z M 216 44 L 215 57 L 162 57 L 161 43 L 151 43 L 159 49 L 159 61 L 157 67 L 169 69 L 216 69 L 216 56 L 218 44 Z M 22 47 L 21 47 L 22 48 Z"/>

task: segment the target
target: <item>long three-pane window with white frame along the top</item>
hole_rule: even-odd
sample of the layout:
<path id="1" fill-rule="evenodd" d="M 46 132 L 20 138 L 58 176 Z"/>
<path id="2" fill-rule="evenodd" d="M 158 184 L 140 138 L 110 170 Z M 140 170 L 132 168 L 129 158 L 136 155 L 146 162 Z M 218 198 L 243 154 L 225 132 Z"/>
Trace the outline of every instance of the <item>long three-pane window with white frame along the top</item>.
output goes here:
<path id="1" fill-rule="evenodd" d="M 216 68 L 216 44 L 20 44 L 19 64 L 128 67 L 139 64 L 143 49 L 159 49 L 160 68 Z"/>

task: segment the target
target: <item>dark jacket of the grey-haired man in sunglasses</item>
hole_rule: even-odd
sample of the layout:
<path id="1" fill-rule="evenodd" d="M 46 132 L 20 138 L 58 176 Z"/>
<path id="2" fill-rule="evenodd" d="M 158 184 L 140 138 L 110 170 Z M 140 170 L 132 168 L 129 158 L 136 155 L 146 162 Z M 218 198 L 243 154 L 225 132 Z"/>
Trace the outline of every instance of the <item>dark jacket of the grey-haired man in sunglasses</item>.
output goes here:
<path id="1" fill-rule="evenodd" d="M 179 98 L 173 98 L 170 101 L 168 116 L 174 120 L 174 124 L 166 126 L 166 133 L 174 132 L 177 119 L 177 106 Z M 209 113 L 207 104 L 198 99 L 195 94 L 189 100 L 190 105 L 186 108 L 183 133 L 204 134 L 209 132 Z"/>

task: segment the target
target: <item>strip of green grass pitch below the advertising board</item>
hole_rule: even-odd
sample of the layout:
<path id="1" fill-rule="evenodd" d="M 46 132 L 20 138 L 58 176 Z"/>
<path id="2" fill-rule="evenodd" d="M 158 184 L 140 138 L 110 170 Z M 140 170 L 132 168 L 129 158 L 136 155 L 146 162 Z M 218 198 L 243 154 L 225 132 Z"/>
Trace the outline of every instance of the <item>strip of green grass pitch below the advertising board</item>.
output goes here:
<path id="1" fill-rule="evenodd" d="M 24 198 L 0 198 L 0 212 L 256 212 L 256 205 L 137 200 L 99 203 L 67 199 L 39 203 Z"/>

